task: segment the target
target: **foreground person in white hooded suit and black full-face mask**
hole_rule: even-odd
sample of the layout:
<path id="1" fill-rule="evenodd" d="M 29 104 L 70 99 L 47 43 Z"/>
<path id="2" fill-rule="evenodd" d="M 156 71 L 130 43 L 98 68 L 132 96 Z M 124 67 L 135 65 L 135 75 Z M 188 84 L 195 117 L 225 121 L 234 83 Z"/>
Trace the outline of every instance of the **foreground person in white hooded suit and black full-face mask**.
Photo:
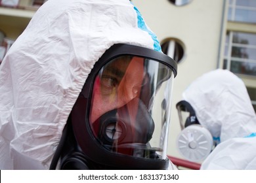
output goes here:
<path id="1" fill-rule="evenodd" d="M 47 1 L 0 66 L 0 169 L 175 169 L 176 75 L 129 0 Z"/>

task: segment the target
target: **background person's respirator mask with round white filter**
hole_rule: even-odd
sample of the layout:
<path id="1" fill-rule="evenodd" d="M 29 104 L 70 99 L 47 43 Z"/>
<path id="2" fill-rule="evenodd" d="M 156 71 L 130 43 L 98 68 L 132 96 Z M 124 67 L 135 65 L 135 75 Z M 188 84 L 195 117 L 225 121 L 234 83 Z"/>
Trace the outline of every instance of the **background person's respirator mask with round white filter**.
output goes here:
<path id="1" fill-rule="evenodd" d="M 213 150 L 216 143 L 208 129 L 200 125 L 194 108 L 187 101 L 179 101 L 181 133 L 177 137 L 179 153 L 188 161 L 202 161 Z"/>

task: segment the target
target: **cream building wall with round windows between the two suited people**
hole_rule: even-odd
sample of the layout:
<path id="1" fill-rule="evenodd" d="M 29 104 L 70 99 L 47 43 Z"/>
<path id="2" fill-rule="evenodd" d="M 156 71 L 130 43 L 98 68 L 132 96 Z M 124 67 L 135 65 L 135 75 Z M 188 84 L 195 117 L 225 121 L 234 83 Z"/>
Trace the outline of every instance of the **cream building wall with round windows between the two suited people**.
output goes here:
<path id="1" fill-rule="evenodd" d="M 167 0 L 133 0 L 146 24 L 156 33 L 160 42 L 173 37 L 184 44 L 184 58 L 178 64 L 178 75 L 173 88 L 173 105 L 169 131 L 168 154 L 182 158 L 176 148 L 181 128 L 176 103 L 182 99 L 186 87 L 203 73 L 217 69 L 223 52 L 222 0 L 192 0 L 177 7 Z"/>

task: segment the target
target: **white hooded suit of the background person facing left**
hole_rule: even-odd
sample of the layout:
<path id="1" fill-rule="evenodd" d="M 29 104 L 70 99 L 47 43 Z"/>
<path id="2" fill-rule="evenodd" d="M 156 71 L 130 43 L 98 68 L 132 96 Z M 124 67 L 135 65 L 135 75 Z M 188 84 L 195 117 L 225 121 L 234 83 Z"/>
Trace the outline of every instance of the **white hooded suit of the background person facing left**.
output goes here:
<path id="1" fill-rule="evenodd" d="M 201 169 L 256 169 L 256 114 L 244 82 L 217 69 L 194 80 L 183 93 L 196 116 L 220 144 Z"/>

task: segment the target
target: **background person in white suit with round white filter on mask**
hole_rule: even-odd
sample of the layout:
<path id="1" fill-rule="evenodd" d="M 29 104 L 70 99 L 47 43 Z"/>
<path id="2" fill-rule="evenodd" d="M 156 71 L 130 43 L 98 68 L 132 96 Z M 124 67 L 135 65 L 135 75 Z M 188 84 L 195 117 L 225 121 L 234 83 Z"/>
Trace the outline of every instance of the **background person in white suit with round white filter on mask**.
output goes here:
<path id="1" fill-rule="evenodd" d="M 210 71 L 182 97 L 177 109 L 189 115 L 177 144 L 184 158 L 202 161 L 201 169 L 256 169 L 256 114 L 238 76 Z"/>

